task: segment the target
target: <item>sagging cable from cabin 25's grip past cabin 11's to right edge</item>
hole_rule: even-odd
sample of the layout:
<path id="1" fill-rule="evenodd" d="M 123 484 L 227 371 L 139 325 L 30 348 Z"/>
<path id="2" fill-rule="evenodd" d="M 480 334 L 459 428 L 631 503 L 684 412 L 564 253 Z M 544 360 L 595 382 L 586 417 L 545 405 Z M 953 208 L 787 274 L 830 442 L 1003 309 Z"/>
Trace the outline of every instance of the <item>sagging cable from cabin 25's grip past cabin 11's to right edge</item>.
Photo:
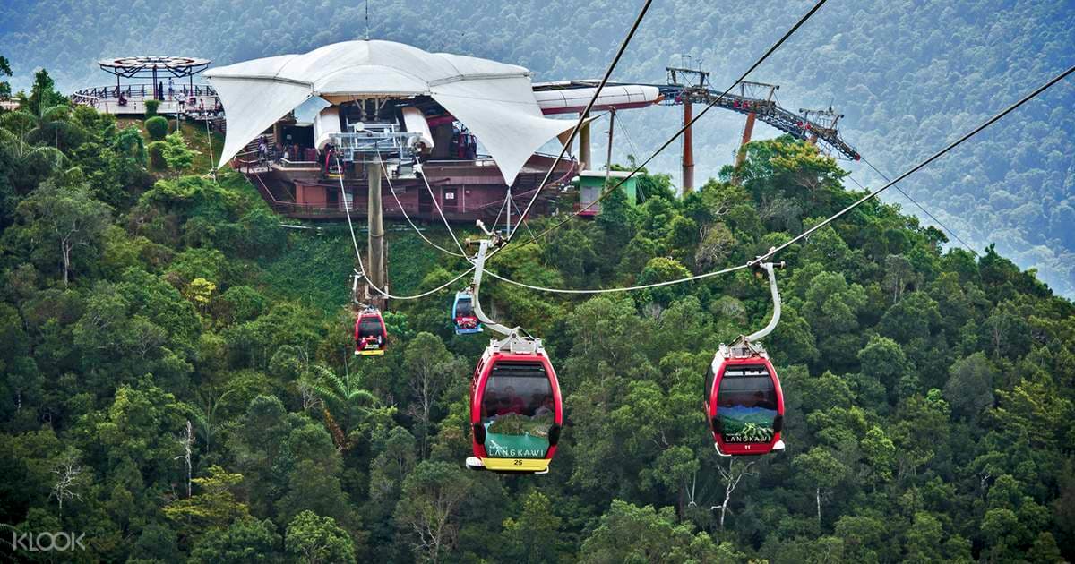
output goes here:
<path id="1" fill-rule="evenodd" d="M 522 288 L 528 288 L 528 289 L 531 289 L 531 290 L 536 290 L 536 291 L 553 292 L 553 293 L 593 294 L 593 293 L 630 292 L 630 291 L 634 291 L 634 290 L 644 290 L 644 289 L 657 288 L 657 287 L 661 287 L 661 286 L 672 286 L 672 285 L 676 285 L 676 284 L 684 284 L 684 283 L 688 283 L 688 281 L 693 281 L 693 280 L 699 280 L 699 279 L 703 279 L 703 278 L 708 278 L 708 277 L 712 277 L 712 276 L 718 276 L 718 275 L 721 275 L 721 274 L 728 274 L 728 273 L 740 271 L 740 270 L 744 270 L 744 269 L 755 267 L 758 264 L 761 264 L 762 262 L 769 261 L 777 252 L 786 249 L 787 247 L 789 247 L 789 246 L 798 243 L 799 241 L 801 241 L 801 240 L 809 236 L 815 231 L 817 231 L 817 230 L 823 228 L 825 226 L 828 226 L 829 223 L 831 223 L 831 222 L 835 221 L 836 219 L 841 218 L 842 216 L 844 216 L 845 214 L 847 214 L 851 209 L 855 209 L 856 207 L 858 207 L 859 205 L 861 205 L 863 202 L 865 202 L 868 200 L 871 200 L 873 198 L 876 198 L 877 196 L 879 196 L 882 192 L 884 192 L 888 188 L 894 186 L 897 183 L 899 183 L 899 182 L 903 180 L 904 178 L 906 178 L 907 176 L 911 176 L 912 174 L 918 172 L 919 170 L 921 170 L 922 168 L 924 168 L 929 163 L 931 163 L 934 160 L 941 158 L 942 156 L 944 156 L 945 154 L 947 154 L 951 149 L 958 147 L 959 145 L 961 145 L 962 143 L 964 143 L 969 139 L 971 139 L 974 135 L 978 134 L 979 132 L 981 132 L 981 130 L 988 128 L 989 126 L 991 126 L 991 125 L 995 124 L 997 121 L 999 121 L 1004 116 L 1010 114 L 1012 112 L 1014 112 L 1016 109 L 1018 109 L 1022 104 L 1024 104 L 1024 103 L 1029 102 L 1030 100 L 1032 100 L 1033 98 L 1037 97 L 1038 95 L 1041 95 L 1042 92 L 1044 92 L 1045 90 L 1047 90 L 1052 85 L 1055 85 L 1058 82 L 1060 82 L 1063 78 L 1065 78 L 1072 72 L 1075 72 L 1075 67 L 1072 67 L 1072 68 L 1067 69 L 1066 71 L 1058 74 L 1056 77 L 1054 77 L 1049 82 L 1047 82 L 1044 85 L 1040 86 L 1033 92 L 1024 96 L 1018 102 L 1009 105 L 1007 109 L 1005 109 L 1004 111 L 1002 111 L 999 114 L 994 115 L 993 117 L 989 118 L 984 124 L 981 124 L 980 126 L 974 128 L 970 132 L 965 133 L 964 135 L 962 135 L 961 138 L 959 138 L 957 141 L 950 143 L 945 148 L 943 148 L 943 149 L 938 150 L 937 153 L 933 154 L 933 156 L 927 158 L 926 160 L 919 162 L 918 164 L 916 164 L 915 167 L 913 167 L 908 171 L 904 172 L 903 174 L 901 174 L 900 176 L 898 176 L 894 180 L 889 180 L 889 183 L 886 184 L 885 186 L 883 186 L 883 187 L 878 188 L 877 190 L 875 190 L 873 192 L 870 192 L 869 194 L 860 198 L 858 201 L 856 201 L 851 205 L 849 205 L 849 206 L 841 209 L 840 212 L 833 214 L 831 217 L 829 217 L 825 221 L 822 221 L 822 222 L 818 223 L 817 226 L 814 226 L 813 228 L 811 228 L 811 229 L 808 229 L 808 230 L 800 233 L 794 238 L 792 238 L 792 240 L 784 243 L 783 245 L 770 249 L 764 255 L 761 255 L 761 256 L 757 257 L 756 259 L 754 259 L 751 261 L 748 261 L 746 264 L 740 264 L 737 266 L 731 266 L 731 267 L 723 269 L 723 270 L 716 271 L 716 272 L 708 272 L 708 273 L 705 273 L 705 274 L 698 274 L 698 275 L 694 275 L 694 276 L 687 276 L 685 278 L 678 278 L 678 279 L 675 279 L 675 280 L 668 280 L 668 281 L 662 281 L 662 283 L 654 283 L 654 284 L 646 284 L 646 285 L 640 285 L 640 286 L 630 286 L 630 287 L 626 287 L 626 288 L 599 288 L 599 289 L 588 289 L 588 290 L 572 290 L 572 289 L 564 289 L 564 288 L 545 288 L 545 287 L 542 287 L 542 286 L 533 286 L 533 285 L 529 285 L 529 284 L 525 284 L 525 283 L 512 280 L 512 279 L 510 279 L 507 277 L 501 276 L 501 275 L 499 275 L 499 274 L 497 274 L 494 272 L 488 271 L 488 270 L 486 270 L 485 273 L 488 274 L 489 276 L 493 277 L 493 278 L 499 279 L 499 280 L 502 280 L 502 281 L 505 281 L 505 283 L 508 283 L 508 284 L 513 284 L 515 286 L 519 286 L 519 287 L 522 287 Z"/>

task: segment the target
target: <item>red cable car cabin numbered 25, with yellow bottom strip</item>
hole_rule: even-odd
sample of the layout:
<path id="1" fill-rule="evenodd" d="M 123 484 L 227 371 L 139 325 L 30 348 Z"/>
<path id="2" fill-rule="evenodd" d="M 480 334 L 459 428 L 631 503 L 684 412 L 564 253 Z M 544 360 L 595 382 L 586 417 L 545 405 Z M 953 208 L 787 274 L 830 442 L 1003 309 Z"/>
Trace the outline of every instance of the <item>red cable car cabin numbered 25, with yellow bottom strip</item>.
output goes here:
<path id="1" fill-rule="evenodd" d="M 469 467 L 545 474 L 562 424 L 560 386 L 544 350 L 486 349 L 471 381 Z"/>

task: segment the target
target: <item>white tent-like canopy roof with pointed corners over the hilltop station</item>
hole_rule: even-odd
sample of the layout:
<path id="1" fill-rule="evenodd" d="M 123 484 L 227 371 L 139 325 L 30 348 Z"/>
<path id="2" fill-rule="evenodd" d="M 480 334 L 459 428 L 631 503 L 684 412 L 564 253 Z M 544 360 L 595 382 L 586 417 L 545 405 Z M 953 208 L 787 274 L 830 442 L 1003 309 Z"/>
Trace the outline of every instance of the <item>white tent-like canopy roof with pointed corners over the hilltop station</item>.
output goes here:
<path id="1" fill-rule="evenodd" d="M 522 67 L 428 53 L 391 41 L 347 41 L 205 72 L 228 116 L 223 167 L 307 99 L 340 103 L 372 96 L 432 97 L 489 150 L 511 185 L 527 159 L 574 126 L 542 115 Z"/>

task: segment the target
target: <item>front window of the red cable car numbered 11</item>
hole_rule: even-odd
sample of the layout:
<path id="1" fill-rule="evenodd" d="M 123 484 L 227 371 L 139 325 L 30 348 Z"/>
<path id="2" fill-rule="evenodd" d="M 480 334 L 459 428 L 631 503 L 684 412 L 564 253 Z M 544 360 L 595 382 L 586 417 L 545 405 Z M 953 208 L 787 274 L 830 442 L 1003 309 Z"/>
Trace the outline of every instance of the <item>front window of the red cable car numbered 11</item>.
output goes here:
<path id="1" fill-rule="evenodd" d="M 728 366 L 717 391 L 726 443 L 768 443 L 776 418 L 776 387 L 764 365 Z"/>

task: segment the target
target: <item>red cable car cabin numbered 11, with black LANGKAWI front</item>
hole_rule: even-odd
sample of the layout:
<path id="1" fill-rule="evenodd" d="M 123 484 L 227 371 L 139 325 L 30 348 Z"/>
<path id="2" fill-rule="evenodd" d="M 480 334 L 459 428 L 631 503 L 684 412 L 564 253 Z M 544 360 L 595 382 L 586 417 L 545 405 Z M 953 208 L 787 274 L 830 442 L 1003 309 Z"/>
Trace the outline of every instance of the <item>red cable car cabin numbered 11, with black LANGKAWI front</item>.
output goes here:
<path id="1" fill-rule="evenodd" d="M 748 347 L 720 345 L 705 374 L 705 414 L 721 455 L 784 450 L 780 380 L 768 355 Z"/>

